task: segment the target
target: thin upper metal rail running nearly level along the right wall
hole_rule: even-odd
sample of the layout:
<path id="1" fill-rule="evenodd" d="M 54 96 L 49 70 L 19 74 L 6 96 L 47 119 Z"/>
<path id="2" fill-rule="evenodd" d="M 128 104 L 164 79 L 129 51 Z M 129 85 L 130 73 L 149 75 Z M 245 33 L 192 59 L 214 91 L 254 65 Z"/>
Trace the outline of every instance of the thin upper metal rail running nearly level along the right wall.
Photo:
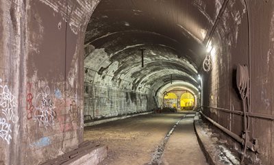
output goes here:
<path id="1" fill-rule="evenodd" d="M 212 106 L 201 106 L 201 107 L 211 108 L 213 110 L 227 112 L 227 113 L 230 113 L 230 114 L 244 115 L 244 112 L 232 111 L 232 110 L 225 109 L 225 108 L 222 108 L 222 107 L 212 107 Z M 269 115 L 269 114 L 257 114 L 257 113 L 247 112 L 247 116 L 250 116 L 250 117 L 253 117 L 253 118 L 263 118 L 263 119 L 266 119 L 266 120 L 274 120 L 274 116 Z"/>

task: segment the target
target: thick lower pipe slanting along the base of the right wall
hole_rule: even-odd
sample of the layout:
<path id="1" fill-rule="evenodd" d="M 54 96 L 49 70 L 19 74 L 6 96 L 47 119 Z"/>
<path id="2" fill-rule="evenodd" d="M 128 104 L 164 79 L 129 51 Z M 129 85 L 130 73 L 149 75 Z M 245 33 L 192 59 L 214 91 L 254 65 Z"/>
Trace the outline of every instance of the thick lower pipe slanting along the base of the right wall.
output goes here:
<path id="1" fill-rule="evenodd" d="M 240 136 L 234 134 L 232 131 L 229 131 L 228 129 L 226 129 L 225 127 L 223 127 L 222 125 L 219 125 L 219 123 L 216 123 L 216 121 L 212 120 L 211 118 L 209 118 L 208 116 L 206 116 L 205 114 L 203 114 L 203 112 L 200 111 L 200 114 L 206 118 L 208 121 L 210 121 L 210 123 L 212 123 L 212 125 L 215 125 L 216 127 L 218 127 L 219 129 L 221 129 L 221 131 L 224 131 L 225 134 L 231 136 L 232 138 L 234 138 L 236 141 L 240 142 L 240 144 L 245 144 L 245 139 L 240 138 Z M 253 152 L 259 152 L 258 147 L 256 146 L 256 144 L 252 144 L 251 142 L 247 142 L 247 148 L 249 148 L 251 151 Z"/>

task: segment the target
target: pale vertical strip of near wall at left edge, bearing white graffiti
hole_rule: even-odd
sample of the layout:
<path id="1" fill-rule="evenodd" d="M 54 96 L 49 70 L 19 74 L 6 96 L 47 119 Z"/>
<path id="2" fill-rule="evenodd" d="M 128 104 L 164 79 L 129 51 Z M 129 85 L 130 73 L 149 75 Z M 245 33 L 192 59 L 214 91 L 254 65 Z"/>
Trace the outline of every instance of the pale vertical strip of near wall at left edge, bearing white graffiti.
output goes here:
<path id="1" fill-rule="evenodd" d="M 0 1 L 0 164 L 18 164 L 23 141 L 25 66 L 21 62 L 26 49 L 21 36 L 25 35 L 26 18 L 25 4 L 16 2 Z"/>

